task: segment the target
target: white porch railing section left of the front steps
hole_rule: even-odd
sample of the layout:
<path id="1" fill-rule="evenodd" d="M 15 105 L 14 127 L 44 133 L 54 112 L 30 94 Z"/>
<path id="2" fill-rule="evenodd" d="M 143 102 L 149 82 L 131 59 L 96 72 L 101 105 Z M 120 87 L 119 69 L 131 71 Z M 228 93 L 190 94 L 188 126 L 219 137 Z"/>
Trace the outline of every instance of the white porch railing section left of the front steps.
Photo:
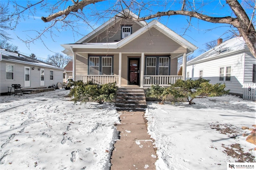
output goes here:
<path id="1" fill-rule="evenodd" d="M 92 81 L 96 84 L 107 84 L 116 82 L 118 84 L 118 75 L 76 75 L 76 81 L 83 80 L 84 83 Z"/>

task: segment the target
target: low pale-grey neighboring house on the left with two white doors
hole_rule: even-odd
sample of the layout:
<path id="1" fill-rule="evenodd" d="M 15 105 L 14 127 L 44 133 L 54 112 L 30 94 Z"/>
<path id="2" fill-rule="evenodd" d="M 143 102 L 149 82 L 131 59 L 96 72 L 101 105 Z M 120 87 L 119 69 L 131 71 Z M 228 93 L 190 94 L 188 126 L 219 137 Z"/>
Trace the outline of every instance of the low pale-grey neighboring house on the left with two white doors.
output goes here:
<path id="1" fill-rule="evenodd" d="M 63 71 L 17 52 L 0 49 L 0 94 L 7 94 L 12 84 L 20 84 L 23 88 L 47 88 L 62 83 Z"/>

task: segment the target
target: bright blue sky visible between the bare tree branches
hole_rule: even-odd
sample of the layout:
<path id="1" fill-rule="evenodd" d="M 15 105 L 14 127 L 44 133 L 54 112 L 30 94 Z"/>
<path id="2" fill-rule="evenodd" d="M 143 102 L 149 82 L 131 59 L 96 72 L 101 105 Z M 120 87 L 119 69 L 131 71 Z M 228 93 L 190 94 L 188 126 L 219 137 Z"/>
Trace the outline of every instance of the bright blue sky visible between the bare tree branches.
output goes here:
<path id="1" fill-rule="evenodd" d="M 7 3 L 7 0 L 1 0 L 1 2 Z M 31 2 L 37 2 L 32 0 Z M 50 0 L 49 2 L 56 2 L 54 0 Z M 92 8 L 96 9 L 104 9 L 107 6 L 110 6 L 110 4 L 116 2 L 115 0 L 109 0 L 106 2 L 99 2 L 95 5 L 92 5 Z M 168 8 L 163 8 L 162 6 L 156 6 L 154 8 L 153 12 L 157 11 L 164 11 L 164 10 L 179 10 L 181 4 L 177 3 L 178 1 L 171 1 L 169 3 Z M 204 1 L 207 2 L 208 1 Z M 210 2 L 210 1 L 209 1 Z M 26 0 L 19 0 L 18 3 L 25 4 Z M 224 7 L 223 7 L 224 5 Z M 13 10 L 12 4 L 9 3 L 9 9 L 10 11 Z M 216 17 L 222 17 L 222 16 L 231 16 L 231 10 L 229 9 L 229 6 L 226 4 L 224 0 L 216 0 L 213 1 L 210 5 L 204 6 L 203 9 L 206 13 L 210 16 L 216 16 Z M 87 11 L 87 10 L 86 10 Z M 134 11 L 133 11 L 134 12 Z M 136 12 L 134 12 L 136 13 Z M 76 33 L 70 31 L 70 30 L 62 30 L 59 29 L 58 31 L 56 29 L 52 30 L 52 33 L 54 33 L 54 36 L 51 36 L 50 33 L 46 33 L 45 36 L 42 37 L 42 41 L 40 39 L 34 41 L 34 43 L 29 44 L 29 48 L 26 46 L 25 43 L 23 43 L 20 39 L 27 39 L 28 37 L 35 37 L 38 33 L 37 30 L 40 32 L 40 30 L 44 29 L 44 27 L 47 27 L 48 24 L 44 23 L 41 20 L 41 17 L 48 16 L 48 12 L 44 12 L 44 10 L 38 10 L 36 12 L 36 15 L 33 16 L 26 16 L 25 20 L 20 19 L 18 26 L 13 31 L 8 31 L 10 33 L 10 37 L 13 39 L 10 41 L 13 45 L 18 46 L 18 50 L 20 53 L 24 55 L 30 55 L 31 53 L 34 53 L 36 57 L 40 59 L 46 59 L 48 55 L 54 55 L 54 53 L 62 53 L 63 47 L 61 47 L 61 44 L 66 43 L 74 43 L 81 39 L 82 35 L 77 35 Z M 142 14 L 143 16 L 143 14 Z M 199 49 L 204 49 L 204 44 L 212 41 L 217 40 L 218 38 L 225 39 L 230 34 L 225 34 L 230 29 L 230 25 L 226 24 L 216 24 L 216 23 L 209 23 L 206 21 L 201 21 L 198 19 L 192 19 L 192 26 L 188 27 L 188 21 L 190 18 L 186 16 L 170 16 L 170 17 L 162 17 L 158 19 L 161 23 L 178 33 L 179 35 L 182 35 L 185 39 L 196 45 Z M 91 23 L 94 23 L 95 21 L 91 21 Z M 148 21 L 149 22 L 149 21 Z M 100 23 L 96 23 L 94 25 L 94 28 L 97 26 L 100 26 L 103 21 Z M 186 29 L 188 28 L 188 29 Z M 186 30 L 186 32 L 184 32 Z M 86 35 L 90 33 L 92 29 L 88 27 L 88 25 L 81 25 L 80 23 L 80 33 L 83 35 Z M 19 39 L 19 38 L 20 39 Z M 194 56 L 198 56 L 199 50 L 194 52 Z"/>

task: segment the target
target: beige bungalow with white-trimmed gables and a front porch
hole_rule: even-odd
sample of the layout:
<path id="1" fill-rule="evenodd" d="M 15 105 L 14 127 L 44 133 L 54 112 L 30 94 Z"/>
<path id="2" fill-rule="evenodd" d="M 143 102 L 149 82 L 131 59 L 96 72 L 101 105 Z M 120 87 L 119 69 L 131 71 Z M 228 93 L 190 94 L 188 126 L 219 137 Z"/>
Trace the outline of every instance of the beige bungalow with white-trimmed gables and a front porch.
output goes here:
<path id="1" fill-rule="evenodd" d="M 117 82 L 118 87 L 166 86 L 177 76 L 178 57 L 196 50 L 196 46 L 152 20 L 133 21 L 124 10 L 73 44 L 63 44 L 65 54 L 73 57 L 74 81 L 98 84 Z"/>

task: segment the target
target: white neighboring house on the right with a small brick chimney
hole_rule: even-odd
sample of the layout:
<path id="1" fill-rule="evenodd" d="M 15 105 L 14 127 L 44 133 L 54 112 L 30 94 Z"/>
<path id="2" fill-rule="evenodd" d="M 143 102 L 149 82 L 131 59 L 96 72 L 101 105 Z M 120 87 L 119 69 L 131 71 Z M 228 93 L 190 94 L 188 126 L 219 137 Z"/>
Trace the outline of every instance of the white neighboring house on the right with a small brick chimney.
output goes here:
<path id="1" fill-rule="evenodd" d="M 188 61 L 187 79 L 204 78 L 210 83 L 225 83 L 230 94 L 243 96 L 243 85 L 256 83 L 256 59 L 243 37 L 235 37 Z M 255 91 L 254 91 L 255 93 Z"/>

